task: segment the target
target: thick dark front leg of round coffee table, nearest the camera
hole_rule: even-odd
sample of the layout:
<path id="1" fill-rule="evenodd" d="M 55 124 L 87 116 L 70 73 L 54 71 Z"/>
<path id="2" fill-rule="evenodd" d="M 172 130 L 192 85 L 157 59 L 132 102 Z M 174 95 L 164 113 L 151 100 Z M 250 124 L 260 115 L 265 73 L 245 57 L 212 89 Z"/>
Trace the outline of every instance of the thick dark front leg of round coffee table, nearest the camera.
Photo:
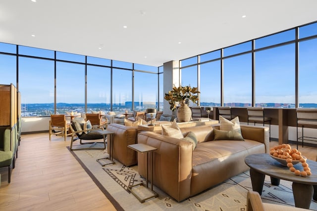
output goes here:
<path id="1" fill-rule="evenodd" d="M 313 185 L 293 182 L 292 188 L 295 207 L 309 209 L 314 194 Z"/>

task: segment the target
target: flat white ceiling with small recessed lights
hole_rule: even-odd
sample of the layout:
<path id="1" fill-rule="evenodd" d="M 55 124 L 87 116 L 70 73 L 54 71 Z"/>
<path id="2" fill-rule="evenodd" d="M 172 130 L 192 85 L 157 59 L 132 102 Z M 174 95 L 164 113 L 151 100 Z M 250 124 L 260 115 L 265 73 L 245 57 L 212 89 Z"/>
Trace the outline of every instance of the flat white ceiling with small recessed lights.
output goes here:
<path id="1" fill-rule="evenodd" d="M 317 0 L 0 0 L 0 42 L 160 66 L 317 21 L 316 9 Z"/>

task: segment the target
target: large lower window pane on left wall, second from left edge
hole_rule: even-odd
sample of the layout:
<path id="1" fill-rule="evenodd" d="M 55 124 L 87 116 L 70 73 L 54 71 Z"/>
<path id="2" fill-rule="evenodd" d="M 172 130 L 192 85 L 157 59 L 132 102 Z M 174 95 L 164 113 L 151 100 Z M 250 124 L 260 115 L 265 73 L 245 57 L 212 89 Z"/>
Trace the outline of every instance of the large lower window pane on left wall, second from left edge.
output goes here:
<path id="1" fill-rule="evenodd" d="M 19 57 L 22 116 L 54 113 L 54 61 Z"/>

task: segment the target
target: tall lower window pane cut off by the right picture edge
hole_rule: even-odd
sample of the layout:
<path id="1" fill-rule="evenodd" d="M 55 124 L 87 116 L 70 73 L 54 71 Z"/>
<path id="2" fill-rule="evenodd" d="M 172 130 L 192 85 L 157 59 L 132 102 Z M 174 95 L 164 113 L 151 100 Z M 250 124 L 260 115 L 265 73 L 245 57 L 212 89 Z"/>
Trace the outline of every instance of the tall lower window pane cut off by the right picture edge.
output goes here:
<path id="1" fill-rule="evenodd" d="M 299 47 L 299 107 L 317 107 L 317 39 L 300 42 Z"/>

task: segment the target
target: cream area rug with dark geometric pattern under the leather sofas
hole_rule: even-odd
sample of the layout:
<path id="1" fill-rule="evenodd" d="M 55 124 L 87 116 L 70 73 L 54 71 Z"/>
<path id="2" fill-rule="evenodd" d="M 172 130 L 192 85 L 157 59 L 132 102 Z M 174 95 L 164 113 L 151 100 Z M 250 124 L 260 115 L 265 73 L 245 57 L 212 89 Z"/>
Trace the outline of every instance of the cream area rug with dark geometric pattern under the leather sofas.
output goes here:
<path id="1" fill-rule="evenodd" d="M 70 152 L 118 211 L 246 211 L 247 193 L 252 190 L 250 174 L 246 171 L 180 203 L 154 186 L 159 197 L 140 203 L 127 189 L 129 185 L 145 182 L 138 174 L 137 166 L 125 167 L 115 161 L 115 164 L 102 167 L 97 159 L 108 157 L 104 150 Z M 143 186 L 134 190 L 140 196 L 149 194 Z M 266 203 L 295 205 L 292 184 L 285 180 L 281 180 L 279 186 L 274 186 L 266 176 L 261 197 Z M 312 200 L 310 209 L 317 211 L 316 201 Z"/>

